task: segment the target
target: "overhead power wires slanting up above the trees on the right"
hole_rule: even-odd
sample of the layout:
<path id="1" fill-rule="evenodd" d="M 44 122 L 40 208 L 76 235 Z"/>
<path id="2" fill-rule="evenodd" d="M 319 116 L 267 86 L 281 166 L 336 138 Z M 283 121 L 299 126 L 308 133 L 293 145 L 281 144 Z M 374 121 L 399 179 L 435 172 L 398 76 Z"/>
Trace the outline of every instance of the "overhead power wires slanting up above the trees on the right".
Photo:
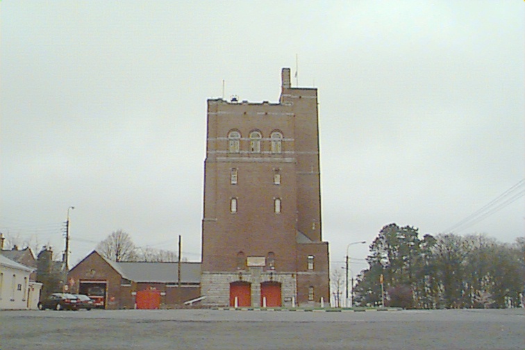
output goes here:
<path id="1" fill-rule="evenodd" d="M 510 203 L 513 203 L 525 195 L 525 178 L 512 185 L 508 190 L 500 194 L 498 197 L 492 199 L 485 206 L 479 208 L 471 215 L 460 220 L 457 224 L 450 226 L 444 232 L 451 232 L 453 230 L 463 231 L 470 226 L 481 222 L 481 220 L 489 217 L 497 211 L 505 208 Z M 462 227 L 462 228 L 461 228 Z"/>

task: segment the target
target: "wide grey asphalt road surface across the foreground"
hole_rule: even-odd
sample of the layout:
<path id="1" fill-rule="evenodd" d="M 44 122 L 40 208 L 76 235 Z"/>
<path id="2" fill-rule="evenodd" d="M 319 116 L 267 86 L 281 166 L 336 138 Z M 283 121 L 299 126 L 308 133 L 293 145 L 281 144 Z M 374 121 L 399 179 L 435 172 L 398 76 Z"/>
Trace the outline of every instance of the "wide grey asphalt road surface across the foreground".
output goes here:
<path id="1" fill-rule="evenodd" d="M 525 349 L 525 310 L 1 311 L 0 349 Z"/>

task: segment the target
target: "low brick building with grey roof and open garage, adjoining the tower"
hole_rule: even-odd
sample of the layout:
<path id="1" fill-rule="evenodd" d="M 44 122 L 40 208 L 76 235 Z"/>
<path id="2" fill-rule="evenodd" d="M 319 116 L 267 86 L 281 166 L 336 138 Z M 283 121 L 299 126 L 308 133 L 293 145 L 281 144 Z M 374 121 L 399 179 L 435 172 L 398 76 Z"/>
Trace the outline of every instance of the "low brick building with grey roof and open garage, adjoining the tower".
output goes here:
<path id="1" fill-rule="evenodd" d="M 160 307 L 180 306 L 201 294 L 201 263 L 115 262 L 92 251 L 68 274 L 69 290 L 87 294 L 101 308 L 135 308 L 142 291 L 158 291 Z"/>

